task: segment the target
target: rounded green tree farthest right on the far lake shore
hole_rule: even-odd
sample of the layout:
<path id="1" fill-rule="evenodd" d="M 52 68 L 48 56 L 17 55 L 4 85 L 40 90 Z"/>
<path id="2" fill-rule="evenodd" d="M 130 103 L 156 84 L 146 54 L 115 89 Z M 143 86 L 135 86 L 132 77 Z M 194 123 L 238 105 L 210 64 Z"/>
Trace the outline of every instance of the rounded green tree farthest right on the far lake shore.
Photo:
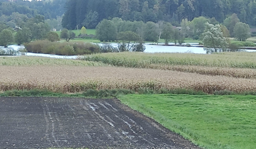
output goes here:
<path id="1" fill-rule="evenodd" d="M 234 37 L 239 41 L 246 41 L 251 36 L 250 27 L 246 23 L 238 22 L 234 26 Z"/>

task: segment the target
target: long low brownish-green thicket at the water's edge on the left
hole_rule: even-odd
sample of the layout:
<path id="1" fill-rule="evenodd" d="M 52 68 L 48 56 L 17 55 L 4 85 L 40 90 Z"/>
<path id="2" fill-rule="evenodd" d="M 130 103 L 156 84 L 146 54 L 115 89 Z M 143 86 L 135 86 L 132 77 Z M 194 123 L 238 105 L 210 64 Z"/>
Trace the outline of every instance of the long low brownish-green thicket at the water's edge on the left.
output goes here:
<path id="1" fill-rule="evenodd" d="M 28 52 L 45 53 L 57 55 L 84 55 L 100 53 L 100 47 L 91 43 L 58 43 L 49 40 L 37 40 L 26 43 L 25 47 Z"/>

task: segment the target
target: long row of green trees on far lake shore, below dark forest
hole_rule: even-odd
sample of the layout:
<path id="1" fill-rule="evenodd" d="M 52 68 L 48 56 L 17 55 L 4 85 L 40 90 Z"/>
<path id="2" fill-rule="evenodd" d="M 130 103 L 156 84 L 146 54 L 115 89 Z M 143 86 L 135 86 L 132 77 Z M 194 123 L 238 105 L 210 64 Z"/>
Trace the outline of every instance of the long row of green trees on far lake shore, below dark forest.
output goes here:
<path id="1" fill-rule="evenodd" d="M 239 41 L 245 41 L 250 37 L 249 25 L 240 22 L 235 13 L 227 17 L 222 24 L 214 18 L 202 16 L 196 17 L 192 21 L 182 19 L 181 27 L 173 26 L 165 21 L 144 23 L 143 21 L 125 21 L 117 17 L 111 20 L 103 19 L 96 26 L 96 37 L 102 42 L 124 39 L 127 41 L 136 40 L 137 42 L 158 42 L 162 38 L 165 39 L 165 44 L 168 44 L 170 40 L 174 40 L 175 44 L 182 44 L 185 38 L 203 40 L 203 33 L 207 30 L 207 23 L 218 24 L 223 37 L 235 37 Z"/>

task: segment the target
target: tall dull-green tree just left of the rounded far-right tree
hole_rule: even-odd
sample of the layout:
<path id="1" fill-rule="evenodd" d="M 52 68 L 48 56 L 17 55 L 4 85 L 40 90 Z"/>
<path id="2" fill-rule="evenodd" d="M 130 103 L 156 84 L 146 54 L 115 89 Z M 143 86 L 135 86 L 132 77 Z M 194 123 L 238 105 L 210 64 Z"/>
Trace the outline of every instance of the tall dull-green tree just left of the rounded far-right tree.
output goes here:
<path id="1" fill-rule="evenodd" d="M 235 13 L 233 13 L 233 15 L 231 15 L 230 17 L 227 17 L 223 21 L 223 24 L 226 28 L 228 28 L 231 37 L 234 37 L 234 27 L 235 27 L 235 24 L 238 22 L 240 22 L 240 20 Z"/>

